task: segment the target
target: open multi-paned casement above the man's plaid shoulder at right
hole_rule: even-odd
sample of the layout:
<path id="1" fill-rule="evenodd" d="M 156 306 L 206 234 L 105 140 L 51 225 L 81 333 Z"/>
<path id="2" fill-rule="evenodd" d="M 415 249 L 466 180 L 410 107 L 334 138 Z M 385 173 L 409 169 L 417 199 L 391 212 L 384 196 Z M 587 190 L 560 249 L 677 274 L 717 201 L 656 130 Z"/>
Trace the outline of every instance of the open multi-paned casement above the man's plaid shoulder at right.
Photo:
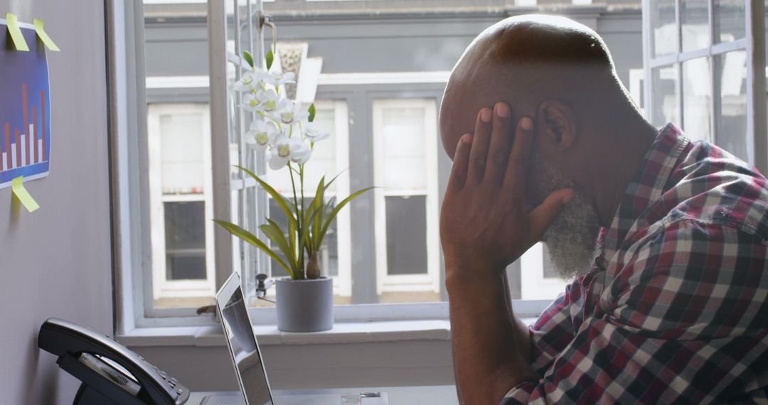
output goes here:
<path id="1" fill-rule="evenodd" d="M 649 118 L 657 126 L 677 123 L 691 140 L 717 143 L 747 162 L 764 165 L 765 151 L 756 146 L 765 142 L 765 115 L 750 115 L 749 101 L 759 91 L 764 103 L 765 91 L 750 78 L 750 71 L 763 74 L 763 63 L 750 50 L 746 27 L 756 18 L 747 18 L 746 4 L 644 2 Z"/>

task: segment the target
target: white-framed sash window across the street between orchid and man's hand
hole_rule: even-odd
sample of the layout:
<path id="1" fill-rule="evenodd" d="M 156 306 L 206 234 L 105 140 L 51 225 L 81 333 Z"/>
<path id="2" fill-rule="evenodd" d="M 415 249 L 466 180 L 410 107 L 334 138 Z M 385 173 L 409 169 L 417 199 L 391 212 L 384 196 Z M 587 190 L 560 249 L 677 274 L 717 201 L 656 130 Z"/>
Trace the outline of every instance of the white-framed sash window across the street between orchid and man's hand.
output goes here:
<path id="1" fill-rule="evenodd" d="M 373 101 L 379 302 L 440 301 L 436 109 L 434 99 Z"/>

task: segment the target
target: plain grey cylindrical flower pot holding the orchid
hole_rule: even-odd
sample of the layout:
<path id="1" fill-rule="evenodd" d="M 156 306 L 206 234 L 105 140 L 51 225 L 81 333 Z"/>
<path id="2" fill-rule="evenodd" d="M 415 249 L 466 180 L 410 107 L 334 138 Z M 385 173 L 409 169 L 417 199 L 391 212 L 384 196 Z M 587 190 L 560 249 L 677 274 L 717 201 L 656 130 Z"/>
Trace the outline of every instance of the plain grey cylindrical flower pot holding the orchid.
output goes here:
<path id="1" fill-rule="evenodd" d="M 333 278 L 280 278 L 276 295 L 280 331 L 317 332 L 333 328 Z"/>

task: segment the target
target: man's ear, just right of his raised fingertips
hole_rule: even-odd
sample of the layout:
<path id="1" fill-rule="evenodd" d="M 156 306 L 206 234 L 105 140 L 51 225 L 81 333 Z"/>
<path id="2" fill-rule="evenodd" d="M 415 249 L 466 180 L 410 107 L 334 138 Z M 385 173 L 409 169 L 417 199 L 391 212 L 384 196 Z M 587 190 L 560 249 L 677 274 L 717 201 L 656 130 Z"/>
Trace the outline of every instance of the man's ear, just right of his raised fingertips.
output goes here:
<path id="1" fill-rule="evenodd" d="M 544 100 L 538 106 L 537 132 L 545 137 L 547 143 L 561 152 L 568 150 L 576 141 L 576 121 L 573 110 L 568 104 L 552 98 Z"/>

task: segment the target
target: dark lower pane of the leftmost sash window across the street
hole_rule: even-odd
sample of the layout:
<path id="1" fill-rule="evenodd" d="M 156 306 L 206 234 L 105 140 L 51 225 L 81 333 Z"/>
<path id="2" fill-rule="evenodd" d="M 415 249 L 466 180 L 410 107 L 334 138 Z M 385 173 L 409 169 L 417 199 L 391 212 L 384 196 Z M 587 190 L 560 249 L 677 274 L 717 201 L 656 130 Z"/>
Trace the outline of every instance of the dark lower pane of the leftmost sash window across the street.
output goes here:
<path id="1" fill-rule="evenodd" d="M 205 279 L 205 202 L 165 202 L 166 279 Z"/>

